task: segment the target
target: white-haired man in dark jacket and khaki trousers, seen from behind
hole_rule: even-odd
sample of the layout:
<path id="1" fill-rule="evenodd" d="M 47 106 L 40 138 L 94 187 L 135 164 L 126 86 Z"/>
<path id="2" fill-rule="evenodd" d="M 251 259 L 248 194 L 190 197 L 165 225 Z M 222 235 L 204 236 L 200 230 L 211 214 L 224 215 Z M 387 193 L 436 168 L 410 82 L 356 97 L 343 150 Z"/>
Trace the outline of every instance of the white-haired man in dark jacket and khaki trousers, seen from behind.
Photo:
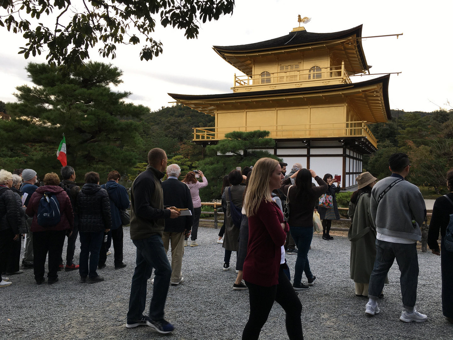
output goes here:
<path id="1" fill-rule="evenodd" d="M 178 286 L 184 281 L 181 268 L 184 255 L 184 234 L 189 234 L 193 223 L 193 204 L 190 189 L 178 180 L 181 168 L 177 164 L 167 166 L 167 180 L 162 182 L 164 191 L 164 206 L 178 209 L 189 209 L 192 215 L 179 216 L 176 219 L 165 219 L 165 229 L 162 235 L 165 252 L 171 243 L 171 269 L 170 283 Z"/>

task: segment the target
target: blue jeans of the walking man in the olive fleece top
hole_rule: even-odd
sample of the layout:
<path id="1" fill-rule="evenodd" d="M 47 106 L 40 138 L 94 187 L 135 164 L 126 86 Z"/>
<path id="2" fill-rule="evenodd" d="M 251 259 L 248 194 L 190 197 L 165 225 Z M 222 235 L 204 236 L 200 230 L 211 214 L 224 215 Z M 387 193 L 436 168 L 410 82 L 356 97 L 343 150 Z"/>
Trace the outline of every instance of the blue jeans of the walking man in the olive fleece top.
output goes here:
<path id="1" fill-rule="evenodd" d="M 164 306 L 169 291 L 171 265 L 165 253 L 160 235 L 132 240 L 137 247 L 137 260 L 130 287 L 128 321 L 138 321 L 143 317 L 146 303 L 146 286 L 154 268 L 153 297 L 149 305 L 149 318 L 164 318 Z"/>

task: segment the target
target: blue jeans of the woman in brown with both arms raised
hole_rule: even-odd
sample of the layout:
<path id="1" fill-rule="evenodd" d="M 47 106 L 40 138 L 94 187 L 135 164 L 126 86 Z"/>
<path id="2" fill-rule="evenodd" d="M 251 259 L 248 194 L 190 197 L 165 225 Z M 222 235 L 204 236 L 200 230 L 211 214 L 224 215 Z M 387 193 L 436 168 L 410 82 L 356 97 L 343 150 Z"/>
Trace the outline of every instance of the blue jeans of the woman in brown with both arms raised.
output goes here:
<path id="1" fill-rule="evenodd" d="M 308 262 L 308 250 L 310 249 L 311 240 L 313 238 L 313 227 L 291 227 L 289 232 L 294 238 L 294 243 L 298 248 L 296 265 L 294 267 L 294 284 L 300 285 L 302 281 L 302 272 L 308 279 L 313 277 L 310 271 L 310 263 Z"/>

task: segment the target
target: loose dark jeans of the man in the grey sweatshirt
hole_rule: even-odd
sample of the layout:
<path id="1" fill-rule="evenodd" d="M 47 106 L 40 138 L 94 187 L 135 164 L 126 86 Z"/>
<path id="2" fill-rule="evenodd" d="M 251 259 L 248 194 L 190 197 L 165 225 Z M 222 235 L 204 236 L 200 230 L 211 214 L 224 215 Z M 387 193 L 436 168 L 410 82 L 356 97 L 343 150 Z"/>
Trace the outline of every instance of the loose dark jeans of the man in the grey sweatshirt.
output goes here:
<path id="1" fill-rule="evenodd" d="M 370 276 L 368 297 L 377 299 L 384 288 L 384 280 L 396 258 L 400 268 L 400 286 L 403 306 L 412 310 L 417 300 L 419 259 L 417 243 L 391 243 L 376 239 L 376 260 Z"/>

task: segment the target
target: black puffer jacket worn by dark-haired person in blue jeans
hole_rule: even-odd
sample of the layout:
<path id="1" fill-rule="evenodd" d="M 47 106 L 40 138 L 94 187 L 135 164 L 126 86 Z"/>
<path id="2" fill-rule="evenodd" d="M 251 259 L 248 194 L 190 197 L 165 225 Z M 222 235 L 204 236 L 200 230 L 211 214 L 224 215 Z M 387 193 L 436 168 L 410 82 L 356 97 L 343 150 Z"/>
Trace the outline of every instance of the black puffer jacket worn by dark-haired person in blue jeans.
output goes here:
<path id="1" fill-rule="evenodd" d="M 110 229 L 110 200 L 106 189 L 101 185 L 87 183 L 77 194 L 79 231 L 94 233 Z"/>

